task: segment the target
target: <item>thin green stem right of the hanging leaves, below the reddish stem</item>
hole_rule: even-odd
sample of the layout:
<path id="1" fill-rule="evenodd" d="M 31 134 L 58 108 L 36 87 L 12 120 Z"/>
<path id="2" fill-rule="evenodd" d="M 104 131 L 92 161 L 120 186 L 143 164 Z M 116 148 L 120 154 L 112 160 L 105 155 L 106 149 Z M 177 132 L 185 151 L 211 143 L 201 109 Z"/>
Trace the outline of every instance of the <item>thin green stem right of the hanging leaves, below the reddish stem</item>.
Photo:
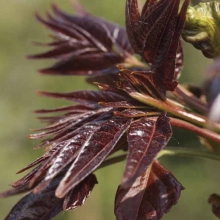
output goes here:
<path id="1" fill-rule="evenodd" d="M 158 154 L 158 158 L 166 155 L 189 156 L 220 161 L 220 154 L 183 147 L 166 147 Z"/>

